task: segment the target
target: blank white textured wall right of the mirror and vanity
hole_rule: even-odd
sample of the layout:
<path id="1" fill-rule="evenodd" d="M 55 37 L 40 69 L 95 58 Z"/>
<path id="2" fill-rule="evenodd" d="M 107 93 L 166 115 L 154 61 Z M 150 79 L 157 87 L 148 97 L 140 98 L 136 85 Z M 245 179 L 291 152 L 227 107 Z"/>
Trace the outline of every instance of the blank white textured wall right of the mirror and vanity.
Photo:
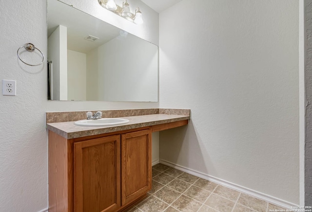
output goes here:
<path id="1" fill-rule="evenodd" d="M 296 0 L 183 0 L 160 13 L 160 107 L 192 119 L 160 133 L 160 159 L 299 204 L 298 17 Z"/>

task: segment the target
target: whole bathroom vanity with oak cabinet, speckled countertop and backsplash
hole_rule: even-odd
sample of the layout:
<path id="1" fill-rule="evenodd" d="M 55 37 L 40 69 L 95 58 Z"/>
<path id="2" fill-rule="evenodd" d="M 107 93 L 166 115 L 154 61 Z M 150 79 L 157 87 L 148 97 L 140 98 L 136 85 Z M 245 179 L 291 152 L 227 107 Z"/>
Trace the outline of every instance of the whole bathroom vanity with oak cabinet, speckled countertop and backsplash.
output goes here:
<path id="1" fill-rule="evenodd" d="M 190 110 L 102 111 L 124 125 L 81 127 L 85 112 L 47 113 L 49 211 L 125 211 L 152 187 L 152 132 L 188 124 Z"/>

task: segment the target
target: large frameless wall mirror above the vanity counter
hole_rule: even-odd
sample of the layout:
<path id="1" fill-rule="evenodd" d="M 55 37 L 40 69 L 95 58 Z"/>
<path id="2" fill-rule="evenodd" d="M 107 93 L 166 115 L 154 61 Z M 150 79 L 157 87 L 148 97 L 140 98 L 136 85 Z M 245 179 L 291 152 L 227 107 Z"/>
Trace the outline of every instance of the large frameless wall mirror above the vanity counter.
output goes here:
<path id="1" fill-rule="evenodd" d="M 158 101 L 158 47 L 48 0 L 48 99 Z"/>

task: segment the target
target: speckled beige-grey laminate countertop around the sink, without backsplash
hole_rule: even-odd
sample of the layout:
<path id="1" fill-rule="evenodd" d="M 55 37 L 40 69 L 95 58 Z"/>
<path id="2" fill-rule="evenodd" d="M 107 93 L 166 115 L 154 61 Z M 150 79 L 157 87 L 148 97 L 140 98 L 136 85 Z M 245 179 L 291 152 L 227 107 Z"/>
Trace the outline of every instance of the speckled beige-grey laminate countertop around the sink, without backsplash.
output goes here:
<path id="1" fill-rule="evenodd" d="M 123 130 L 154 126 L 157 124 L 165 124 L 175 121 L 187 120 L 190 119 L 190 116 L 151 114 L 142 116 L 125 116 L 121 118 L 129 119 L 129 123 L 124 125 L 107 126 L 107 127 L 81 127 L 74 125 L 75 121 L 67 121 L 67 122 L 48 123 L 47 129 L 58 135 L 61 135 L 66 139 L 73 139 L 78 137 L 113 133 Z"/>

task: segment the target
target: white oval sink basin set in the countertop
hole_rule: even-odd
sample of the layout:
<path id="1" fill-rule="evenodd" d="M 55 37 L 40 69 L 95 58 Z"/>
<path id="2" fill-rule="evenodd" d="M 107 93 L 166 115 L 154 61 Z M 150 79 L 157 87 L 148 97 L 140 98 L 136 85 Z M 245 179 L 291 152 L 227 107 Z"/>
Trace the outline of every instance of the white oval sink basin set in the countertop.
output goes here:
<path id="1" fill-rule="evenodd" d="M 129 120 L 125 118 L 100 118 L 90 120 L 75 121 L 75 125 L 83 127 L 102 127 L 102 126 L 115 126 L 120 124 L 126 124 Z"/>

